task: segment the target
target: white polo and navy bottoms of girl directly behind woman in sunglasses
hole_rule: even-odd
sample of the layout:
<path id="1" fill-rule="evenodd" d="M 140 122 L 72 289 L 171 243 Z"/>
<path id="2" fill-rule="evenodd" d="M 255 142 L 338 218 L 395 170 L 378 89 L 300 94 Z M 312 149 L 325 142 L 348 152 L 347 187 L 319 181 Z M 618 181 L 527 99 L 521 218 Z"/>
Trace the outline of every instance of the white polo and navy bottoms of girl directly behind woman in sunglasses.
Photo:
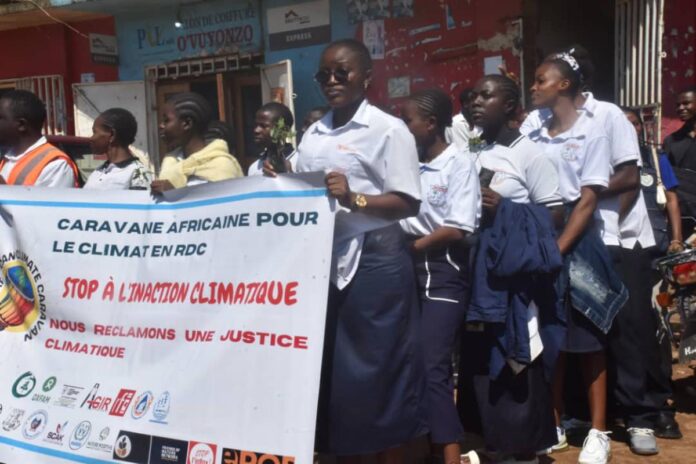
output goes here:
<path id="1" fill-rule="evenodd" d="M 420 164 L 423 202 L 417 216 L 401 221 L 413 239 L 440 227 L 473 233 L 481 215 L 478 175 L 469 156 L 450 145 Z M 433 443 L 453 443 L 463 429 L 454 404 L 452 353 L 469 295 L 469 250 L 463 244 L 413 256 L 421 301 L 421 335 Z"/>

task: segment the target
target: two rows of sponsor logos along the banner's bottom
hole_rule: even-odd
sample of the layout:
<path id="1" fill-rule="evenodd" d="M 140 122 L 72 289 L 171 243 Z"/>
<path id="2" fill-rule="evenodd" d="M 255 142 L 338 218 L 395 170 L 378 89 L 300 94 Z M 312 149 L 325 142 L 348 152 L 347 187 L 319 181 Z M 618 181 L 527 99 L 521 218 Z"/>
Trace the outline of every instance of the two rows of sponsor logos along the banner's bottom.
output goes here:
<path id="1" fill-rule="evenodd" d="M 50 404 L 69 409 L 85 409 L 106 412 L 109 416 L 142 419 L 152 412 L 150 422 L 166 424 L 171 407 L 171 394 L 161 393 L 156 399 L 151 391 L 138 394 L 136 390 L 121 388 L 115 396 L 100 394 L 101 386 L 95 383 L 86 388 L 63 384 L 58 386 L 58 379 L 50 376 L 39 382 L 31 372 L 17 377 L 12 384 L 15 398 L 30 398 L 37 403 Z M 31 395 L 31 396 L 30 396 Z M 0 404 L 0 415 L 3 406 Z M 26 410 L 8 409 L 0 417 L 0 426 L 5 432 L 12 432 L 21 427 L 25 440 L 39 440 L 58 447 L 67 447 L 73 451 L 90 450 L 110 455 L 117 461 L 144 464 L 215 464 L 218 447 L 214 444 L 185 441 L 136 432 L 119 431 L 115 436 L 109 427 L 99 430 L 93 428 L 92 422 L 83 420 L 69 429 L 68 421 L 57 421 L 49 427 L 48 412 L 44 409 L 25 416 Z M 70 432 L 68 434 L 68 432 Z M 223 464 L 294 464 L 289 456 L 222 448 Z"/>

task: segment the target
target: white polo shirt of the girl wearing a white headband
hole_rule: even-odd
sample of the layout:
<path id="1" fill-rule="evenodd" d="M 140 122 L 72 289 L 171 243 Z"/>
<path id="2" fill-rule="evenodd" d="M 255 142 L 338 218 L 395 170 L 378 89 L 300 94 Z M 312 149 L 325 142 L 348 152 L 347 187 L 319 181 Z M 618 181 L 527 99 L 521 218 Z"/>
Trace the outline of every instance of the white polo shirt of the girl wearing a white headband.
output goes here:
<path id="1" fill-rule="evenodd" d="M 549 135 L 550 122 L 544 120 L 528 137 L 556 166 L 563 202 L 577 201 L 582 187 L 606 188 L 611 176 L 609 137 L 593 130 L 591 126 L 595 122 L 583 115 L 569 130 L 554 136 Z"/>

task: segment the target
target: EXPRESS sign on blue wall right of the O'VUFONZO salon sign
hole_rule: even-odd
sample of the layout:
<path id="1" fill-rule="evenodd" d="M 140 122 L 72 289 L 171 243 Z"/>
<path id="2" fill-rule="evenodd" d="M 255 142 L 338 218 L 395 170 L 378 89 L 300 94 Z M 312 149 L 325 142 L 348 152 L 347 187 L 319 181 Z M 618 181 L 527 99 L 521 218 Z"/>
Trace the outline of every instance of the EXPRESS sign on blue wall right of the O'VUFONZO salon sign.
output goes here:
<path id="1" fill-rule="evenodd" d="M 267 10 L 272 51 L 321 45 L 331 41 L 329 0 L 314 0 Z"/>

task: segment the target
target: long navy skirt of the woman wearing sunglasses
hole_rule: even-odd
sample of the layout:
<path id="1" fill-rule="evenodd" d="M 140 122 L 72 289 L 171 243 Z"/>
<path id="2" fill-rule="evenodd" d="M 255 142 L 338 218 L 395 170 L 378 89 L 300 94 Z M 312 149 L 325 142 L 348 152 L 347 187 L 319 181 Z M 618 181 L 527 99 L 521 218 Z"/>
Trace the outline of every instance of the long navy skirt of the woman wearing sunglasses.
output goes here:
<path id="1" fill-rule="evenodd" d="M 331 285 L 317 450 L 369 454 L 428 433 L 419 307 L 398 224 L 365 236 L 358 270 Z"/>

